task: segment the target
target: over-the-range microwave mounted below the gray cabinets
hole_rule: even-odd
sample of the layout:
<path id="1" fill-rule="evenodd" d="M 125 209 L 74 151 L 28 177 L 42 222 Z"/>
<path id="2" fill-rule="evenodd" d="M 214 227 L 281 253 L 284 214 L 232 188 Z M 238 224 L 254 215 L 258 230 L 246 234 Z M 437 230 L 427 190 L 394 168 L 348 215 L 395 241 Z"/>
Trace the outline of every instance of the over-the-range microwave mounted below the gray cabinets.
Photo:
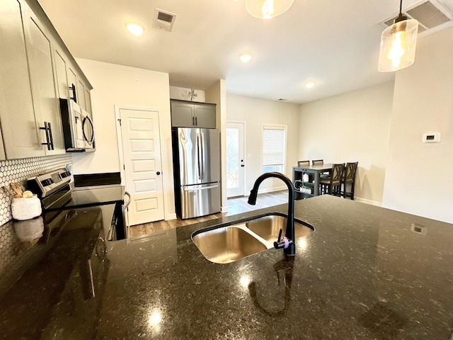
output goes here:
<path id="1" fill-rule="evenodd" d="M 66 152 L 94 151 L 94 126 L 88 112 L 72 99 L 59 98 Z"/>

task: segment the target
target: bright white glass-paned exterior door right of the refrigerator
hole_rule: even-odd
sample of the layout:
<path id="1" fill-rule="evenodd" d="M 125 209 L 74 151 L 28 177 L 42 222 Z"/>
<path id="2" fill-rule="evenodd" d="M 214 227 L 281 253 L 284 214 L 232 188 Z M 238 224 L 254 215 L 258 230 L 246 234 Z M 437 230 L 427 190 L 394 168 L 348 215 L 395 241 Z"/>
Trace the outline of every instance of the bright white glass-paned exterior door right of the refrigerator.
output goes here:
<path id="1" fill-rule="evenodd" d="M 244 159 L 245 123 L 226 122 L 226 195 L 243 196 L 246 159 Z"/>

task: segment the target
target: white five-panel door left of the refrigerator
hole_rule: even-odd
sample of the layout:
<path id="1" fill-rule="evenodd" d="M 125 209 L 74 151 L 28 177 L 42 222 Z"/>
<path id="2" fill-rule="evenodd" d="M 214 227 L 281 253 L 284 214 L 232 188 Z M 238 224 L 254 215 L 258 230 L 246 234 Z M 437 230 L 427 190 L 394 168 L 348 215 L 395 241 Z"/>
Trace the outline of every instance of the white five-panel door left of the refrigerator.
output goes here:
<path id="1" fill-rule="evenodd" d="M 119 108 L 130 225 L 164 220 L 159 111 Z"/>

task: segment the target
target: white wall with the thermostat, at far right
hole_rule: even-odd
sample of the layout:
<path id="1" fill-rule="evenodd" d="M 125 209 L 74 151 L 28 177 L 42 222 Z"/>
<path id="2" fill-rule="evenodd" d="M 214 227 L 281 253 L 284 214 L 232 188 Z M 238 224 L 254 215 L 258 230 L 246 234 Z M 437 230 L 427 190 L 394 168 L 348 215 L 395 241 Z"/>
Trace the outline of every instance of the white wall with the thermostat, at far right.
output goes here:
<path id="1" fill-rule="evenodd" d="M 422 143 L 440 132 L 439 144 Z M 453 223 L 453 28 L 418 41 L 395 81 L 383 205 Z"/>

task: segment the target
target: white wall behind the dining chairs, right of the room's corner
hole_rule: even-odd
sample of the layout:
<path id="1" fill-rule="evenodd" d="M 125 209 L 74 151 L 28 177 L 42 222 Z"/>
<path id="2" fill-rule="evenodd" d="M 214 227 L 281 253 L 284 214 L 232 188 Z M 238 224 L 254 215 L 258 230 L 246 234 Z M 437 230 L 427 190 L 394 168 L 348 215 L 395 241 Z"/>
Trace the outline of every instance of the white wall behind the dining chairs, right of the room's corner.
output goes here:
<path id="1" fill-rule="evenodd" d="M 390 82 L 303 104 L 299 159 L 359 162 L 355 199 L 380 205 L 393 90 Z"/>

